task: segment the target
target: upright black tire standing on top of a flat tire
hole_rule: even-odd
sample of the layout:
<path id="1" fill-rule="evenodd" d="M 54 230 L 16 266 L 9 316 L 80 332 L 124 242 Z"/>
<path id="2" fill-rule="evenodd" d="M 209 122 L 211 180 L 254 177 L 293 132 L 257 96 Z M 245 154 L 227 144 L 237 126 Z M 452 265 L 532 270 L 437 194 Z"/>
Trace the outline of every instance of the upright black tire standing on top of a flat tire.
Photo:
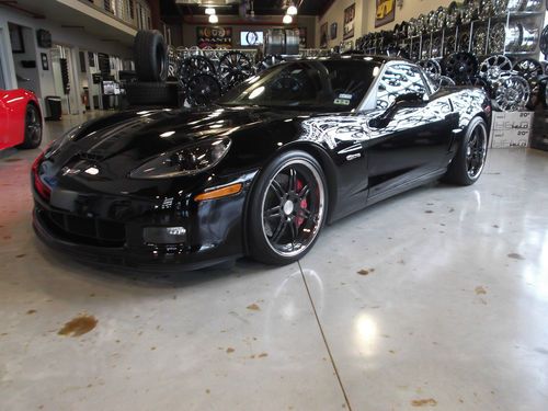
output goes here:
<path id="1" fill-rule="evenodd" d="M 159 31 L 142 30 L 134 41 L 135 71 L 139 81 L 165 81 L 168 46 Z"/>

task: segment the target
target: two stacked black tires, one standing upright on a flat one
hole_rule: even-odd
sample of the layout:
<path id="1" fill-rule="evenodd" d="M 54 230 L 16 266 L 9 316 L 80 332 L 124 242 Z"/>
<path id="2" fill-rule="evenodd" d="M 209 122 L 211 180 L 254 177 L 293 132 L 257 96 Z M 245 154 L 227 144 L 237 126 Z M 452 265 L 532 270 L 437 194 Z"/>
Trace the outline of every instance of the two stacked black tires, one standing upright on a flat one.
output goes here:
<path id="1" fill-rule="evenodd" d="M 134 41 L 137 81 L 126 84 L 130 106 L 179 106 L 179 84 L 168 82 L 168 45 L 156 30 L 142 30 Z"/>

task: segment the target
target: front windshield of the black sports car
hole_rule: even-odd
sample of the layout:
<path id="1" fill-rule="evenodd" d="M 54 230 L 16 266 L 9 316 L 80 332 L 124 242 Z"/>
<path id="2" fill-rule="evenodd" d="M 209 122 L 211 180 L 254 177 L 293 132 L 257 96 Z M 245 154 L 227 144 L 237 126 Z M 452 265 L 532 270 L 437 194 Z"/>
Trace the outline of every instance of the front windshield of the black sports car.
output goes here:
<path id="1" fill-rule="evenodd" d="M 379 72 L 369 60 L 301 60 L 274 66 L 225 94 L 220 105 L 352 111 Z"/>

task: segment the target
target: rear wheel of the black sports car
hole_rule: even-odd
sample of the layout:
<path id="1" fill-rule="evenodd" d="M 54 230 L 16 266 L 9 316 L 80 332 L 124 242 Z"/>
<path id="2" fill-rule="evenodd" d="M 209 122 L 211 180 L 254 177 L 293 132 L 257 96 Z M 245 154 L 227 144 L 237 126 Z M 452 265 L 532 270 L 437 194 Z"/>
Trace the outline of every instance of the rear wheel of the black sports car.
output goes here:
<path id="1" fill-rule="evenodd" d="M 476 183 L 486 164 L 488 142 L 486 122 L 481 117 L 473 117 L 443 180 L 458 185 Z"/>

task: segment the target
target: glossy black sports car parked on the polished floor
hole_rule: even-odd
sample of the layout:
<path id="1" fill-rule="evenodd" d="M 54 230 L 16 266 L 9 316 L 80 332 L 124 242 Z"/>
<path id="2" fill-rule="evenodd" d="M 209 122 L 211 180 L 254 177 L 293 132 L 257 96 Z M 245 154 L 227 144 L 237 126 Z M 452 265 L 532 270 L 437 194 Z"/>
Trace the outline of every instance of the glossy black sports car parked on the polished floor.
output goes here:
<path id="1" fill-rule="evenodd" d="M 407 60 L 285 62 L 207 109 L 70 130 L 33 165 L 34 228 L 107 263 L 284 264 L 324 222 L 436 179 L 472 184 L 490 119 L 481 89 L 437 89 Z"/>

